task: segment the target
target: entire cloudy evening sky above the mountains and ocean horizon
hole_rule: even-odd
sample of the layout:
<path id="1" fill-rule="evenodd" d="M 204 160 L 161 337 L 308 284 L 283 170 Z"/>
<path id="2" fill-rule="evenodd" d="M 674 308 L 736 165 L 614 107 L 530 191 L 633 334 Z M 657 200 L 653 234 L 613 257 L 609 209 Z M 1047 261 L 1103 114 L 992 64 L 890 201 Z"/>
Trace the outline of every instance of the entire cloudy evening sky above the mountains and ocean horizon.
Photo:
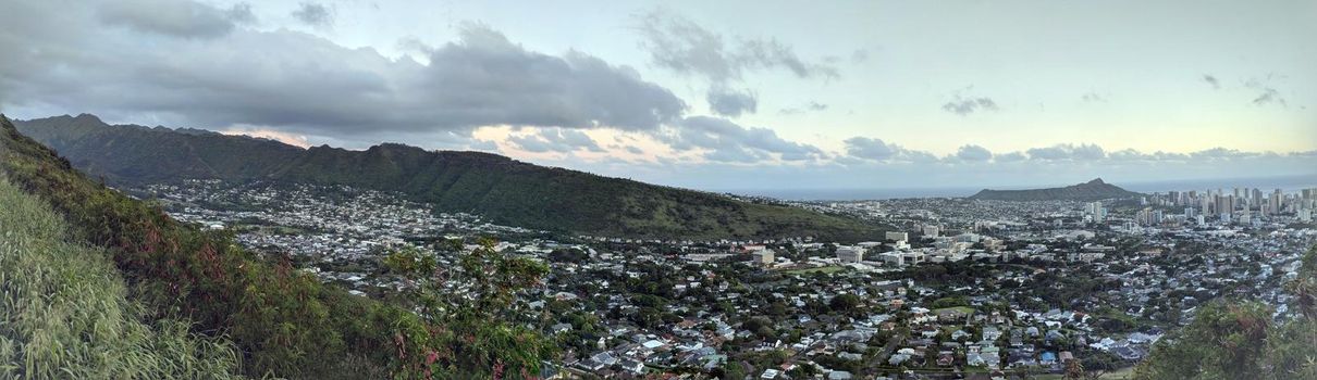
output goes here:
<path id="1" fill-rule="evenodd" d="M 698 189 L 1317 174 L 1317 1 L 0 0 L 0 112 Z"/>

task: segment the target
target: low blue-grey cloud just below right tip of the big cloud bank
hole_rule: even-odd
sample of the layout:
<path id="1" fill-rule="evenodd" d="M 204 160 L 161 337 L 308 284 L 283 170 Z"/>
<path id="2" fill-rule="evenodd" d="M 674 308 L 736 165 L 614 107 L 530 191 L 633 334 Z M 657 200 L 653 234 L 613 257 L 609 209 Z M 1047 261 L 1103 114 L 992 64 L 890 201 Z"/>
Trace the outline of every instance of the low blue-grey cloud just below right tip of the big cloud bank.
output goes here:
<path id="1" fill-rule="evenodd" d="M 712 162 L 815 160 L 823 151 L 786 141 L 766 128 L 744 128 L 726 118 L 694 116 L 655 137 L 676 150 L 701 150 Z"/>

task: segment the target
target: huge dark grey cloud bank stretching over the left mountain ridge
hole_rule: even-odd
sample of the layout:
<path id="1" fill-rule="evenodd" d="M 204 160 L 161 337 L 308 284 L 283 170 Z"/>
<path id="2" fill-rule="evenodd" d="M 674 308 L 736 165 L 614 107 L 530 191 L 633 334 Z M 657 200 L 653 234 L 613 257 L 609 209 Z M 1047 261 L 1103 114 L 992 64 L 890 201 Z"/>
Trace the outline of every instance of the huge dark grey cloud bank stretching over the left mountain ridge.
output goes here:
<path id="1" fill-rule="evenodd" d="M 24 14 L 0 29 L 0 104 L 337 138 L 482 125 L 653 130 L 686 109 L 631 67 L 529 51 L 481 25 L 429 49 L 423 64 L 287 29 L 236 28 L 232 9 L 173 3 L 190 11 L 146 14 L 124 4 L 138 3 L 0 1 L 0 14 Z M 100 33 L 107 24 L 126 28 Z"/>

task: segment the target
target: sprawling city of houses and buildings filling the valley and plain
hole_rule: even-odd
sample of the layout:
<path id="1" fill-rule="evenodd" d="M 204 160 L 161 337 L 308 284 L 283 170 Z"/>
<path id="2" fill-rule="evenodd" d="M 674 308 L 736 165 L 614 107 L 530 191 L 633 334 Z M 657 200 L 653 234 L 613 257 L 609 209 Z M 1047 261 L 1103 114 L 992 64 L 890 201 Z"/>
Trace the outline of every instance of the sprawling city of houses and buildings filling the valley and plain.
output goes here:
<path id="1" fill-rule="evenodd" d="M 518 310 L 560 342 L 544 375 L 569 377 L 1126 371 L 1217 297 L 1291 317 L 1281 284 L 1317 242 L 1317 189 L 789 202 L 892 226 L 846 243 L 558 235 L 346 187 L 191 180 L 133 193 L 374 297 L 404 287 L 381 266 L 390 251 L 452 263 L 461 252 L 433 242 L 493 237 L 549 266 Z"/>

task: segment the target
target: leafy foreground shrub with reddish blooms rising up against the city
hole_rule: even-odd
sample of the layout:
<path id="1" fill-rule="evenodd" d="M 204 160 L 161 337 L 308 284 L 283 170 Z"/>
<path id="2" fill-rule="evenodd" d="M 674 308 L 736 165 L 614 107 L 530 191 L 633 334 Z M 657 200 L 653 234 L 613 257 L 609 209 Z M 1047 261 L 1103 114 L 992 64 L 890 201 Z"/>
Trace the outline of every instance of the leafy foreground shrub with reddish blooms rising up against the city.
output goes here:
<path id="1" fill-rule="evenodd" d="M 477 377 L 532 377 L 540 362 L 554 354 L 551 339 L 522 323 L 514 323 L 512 304 L 518 292 L 535 287 L 548 267 L 527 258 L 494 251 L 494 241 L 482 238 L 470 252 L 461 242 L 445 249 L 457 252 L 456 268 L 437 264 L 435 254 L 404 247 L 385 264 L 404 279 L 404 298 L 427 322 L 394 339 L 398 355 L 425 358 L 425 377 L 456 375 Z M 407 352 L 406 347 L 421 347 Z"/>

